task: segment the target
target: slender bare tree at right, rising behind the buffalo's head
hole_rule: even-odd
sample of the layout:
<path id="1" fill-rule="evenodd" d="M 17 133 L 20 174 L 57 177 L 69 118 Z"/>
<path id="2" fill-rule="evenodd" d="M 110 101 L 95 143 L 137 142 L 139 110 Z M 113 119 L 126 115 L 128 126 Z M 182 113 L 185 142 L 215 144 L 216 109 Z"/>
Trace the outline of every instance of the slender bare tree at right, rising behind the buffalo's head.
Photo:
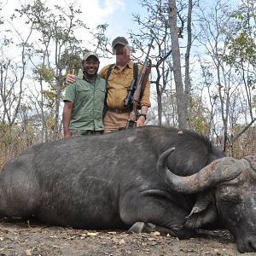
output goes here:
<path id="1" fill-rule="evenodd" d="M 241 119 L 242 108 L 245 106 L 241 99 L 244 92 L 241 88 L 241 80 L 235 76 L 237 70 L 235 62 L 230 61 L 229 45 L 232 41 L 230 38 L 236 33 L 235 27 L 236 24 L 230 15 L 230 6 L 226 2 L 217 1 L 210 13 L 201 9 L 201 34 L 198 40 L 207 53 L 202 67 L 204 67 L 204 73 L 212 73 L 212 78 L 217 78 L 212 79 L 212 84 L 208 86 L 208 92 L 214 102 L 212 107 L 215 108 L 215 120 L 217 122 L 220 117 L 222 121 L 219 127 L 223 130 L 215 131 L 215 133 L 222 133 L 222 136 L 218 138 L 222 140 L 224 151 L 236 137 L 231 136 L 230 125 L 232 126 L 232 122 L 235 125 L 234 120 L 238 120 L 239 115 L 239 119 Z M 242 103 L 240 105 L 237 104 L 239 98 Z M 244 117 L 246 117 L 246 113 L 244 113 Z M 215 125 L 215 129 L 216 127 Z"/>

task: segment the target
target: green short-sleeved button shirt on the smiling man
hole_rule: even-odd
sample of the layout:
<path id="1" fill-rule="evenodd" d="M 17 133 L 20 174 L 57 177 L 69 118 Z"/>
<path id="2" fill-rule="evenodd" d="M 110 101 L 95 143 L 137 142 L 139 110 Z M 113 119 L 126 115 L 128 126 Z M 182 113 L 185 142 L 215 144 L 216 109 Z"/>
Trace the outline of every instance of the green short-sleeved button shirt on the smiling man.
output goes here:
<path id="1" fill-rule="evenodd" d="M 77 77 L 73 84 L 67 85 L 64 102 L 73 102 L 69 124 L 70 130 L 102 131 L 102 112 L 106 95 L 106 81 L 97 76 L 96 84 L 90 84 Z"/>

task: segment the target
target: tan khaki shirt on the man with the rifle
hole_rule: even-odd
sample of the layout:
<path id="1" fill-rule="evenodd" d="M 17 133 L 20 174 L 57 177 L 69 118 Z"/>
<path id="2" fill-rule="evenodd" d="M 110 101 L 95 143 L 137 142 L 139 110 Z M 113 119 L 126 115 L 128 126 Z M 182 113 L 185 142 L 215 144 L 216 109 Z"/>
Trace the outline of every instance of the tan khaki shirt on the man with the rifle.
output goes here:
<path id="1" fill-rule="evenodd" d="M 99 75 L 102 79 L 107 79 L 108 66 L 103 67 Z M 143 66 L 138 65 L 138 73 L 141 72 Z M 125 108 L 124 100 L 127 96 L 128 89 L 133 79 L 133 62 L 129 61 L 125 69 L 120 70 L 118 67 L 113 66 L 113 70 L 108 78 L 108 94 L 107 94 L 107 105 L 108 108 Z M 142 106 L 150 107 L 150 84 L 149 81 L 146 84 L 143 97 L 141 100 Z"/>

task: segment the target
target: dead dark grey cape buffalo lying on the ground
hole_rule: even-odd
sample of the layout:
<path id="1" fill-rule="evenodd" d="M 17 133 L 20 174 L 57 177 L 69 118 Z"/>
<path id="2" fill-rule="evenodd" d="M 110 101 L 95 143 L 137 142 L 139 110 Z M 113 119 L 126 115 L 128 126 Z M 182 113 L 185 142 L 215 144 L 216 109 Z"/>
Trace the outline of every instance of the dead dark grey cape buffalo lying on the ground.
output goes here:
<path id="1" fill-rule="evenodd" d="M 253 252 L 255 169 L 256 156 L 224 157 L 192 131 L 145 126 L 72 137 L 38 144 L 3 167 L 0 215 L 180 238 L 222 223 L 240 252 Z"/>

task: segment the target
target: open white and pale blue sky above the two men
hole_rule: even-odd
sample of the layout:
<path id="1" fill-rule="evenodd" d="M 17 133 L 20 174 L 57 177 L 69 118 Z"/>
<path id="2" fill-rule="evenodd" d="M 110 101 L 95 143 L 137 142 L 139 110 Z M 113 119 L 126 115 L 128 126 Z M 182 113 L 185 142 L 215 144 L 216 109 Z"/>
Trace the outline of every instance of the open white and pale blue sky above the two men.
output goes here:
<path id="1" fill-rule="evenodd" d="M 15 13 L 15 9 L 20 9 L 20 4 L 32 3 L 32 0 L 0 0 L 0 7 L 2 7 L 2 15 L 5 19 Z M 75 7 L 82 11 L 80 16 L 84 24 L 90 28 L 90 30 L 96 30 L 96 26 L 100 24 L 108 23 L 108 30 L 106 35 L 110 38 L 118 36 L 124 36 L 129 38 L 128 30 L 136 30 L 137 24 L 132 21 L 132 14 L 145 14 L 146 10 L 138 3 L 139 0 L 42 0 L 47 6 L 53 6 L 55 4 L 59 6 L 68 6 L 70 3 L 74 3 Z M 16 24 L 17 27 L 20 24 Z M 22 29 L 22 27 L 20 27 Z M 90 45 L 91 35 L 89 31 L 78 31 L 78 38 L 84 42 L 84 47 Z M 102 60 L 101 66 L 114 62 L 113 59 Z"/>

